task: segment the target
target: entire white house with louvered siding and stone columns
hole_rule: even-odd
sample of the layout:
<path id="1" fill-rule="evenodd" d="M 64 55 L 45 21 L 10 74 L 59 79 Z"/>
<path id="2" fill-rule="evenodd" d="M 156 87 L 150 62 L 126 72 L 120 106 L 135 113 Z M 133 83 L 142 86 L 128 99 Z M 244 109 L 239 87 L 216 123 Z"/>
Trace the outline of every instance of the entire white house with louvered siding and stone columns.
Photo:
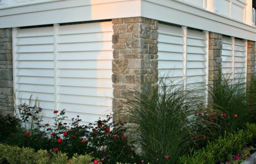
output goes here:
<path id="1" fill-rule="evenodd" d="M 249 80 L 255 41 L 252 0 L 1 0 L 0 110 L 32 94 L 92 122 L 168 71 L 206 95 L 220 67 Z"/>

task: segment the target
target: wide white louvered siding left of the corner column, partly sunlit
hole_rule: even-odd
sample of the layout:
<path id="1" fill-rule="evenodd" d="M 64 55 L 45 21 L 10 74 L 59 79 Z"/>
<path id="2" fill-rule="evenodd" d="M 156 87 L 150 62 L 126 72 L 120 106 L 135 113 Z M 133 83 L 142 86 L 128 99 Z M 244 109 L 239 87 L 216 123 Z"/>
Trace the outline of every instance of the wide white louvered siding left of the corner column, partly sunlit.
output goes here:
<path id="1" fill-rule="evenodd" d="M 83 123 L 111 112 L 111 22 L 17 29 L 14 44 L 17 102 L 39 98 L 45 122 L 55 109 Z"/>

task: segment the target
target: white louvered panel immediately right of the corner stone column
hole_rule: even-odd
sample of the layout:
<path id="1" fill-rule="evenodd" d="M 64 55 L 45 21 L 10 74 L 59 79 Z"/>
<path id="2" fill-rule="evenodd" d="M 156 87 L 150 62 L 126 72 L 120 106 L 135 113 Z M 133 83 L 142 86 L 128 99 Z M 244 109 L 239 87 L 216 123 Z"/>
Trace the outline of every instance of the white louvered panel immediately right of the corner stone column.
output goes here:
<path id="1" fill-rule="evenodd" d="M 159 77 L 168 77 L 169 80 L 175 78 L 175 81 L 183 79 L 183 37 L 184 33 L 182 28 L 159 24 Z"/>

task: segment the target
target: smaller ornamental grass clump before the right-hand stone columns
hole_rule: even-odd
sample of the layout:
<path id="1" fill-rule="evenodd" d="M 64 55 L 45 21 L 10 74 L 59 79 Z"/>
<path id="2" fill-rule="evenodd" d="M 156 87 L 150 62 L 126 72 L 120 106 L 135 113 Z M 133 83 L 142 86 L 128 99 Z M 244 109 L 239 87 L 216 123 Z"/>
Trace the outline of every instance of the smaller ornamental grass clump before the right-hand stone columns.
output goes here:
<path id="1" fill-rule="evenodd" d="M 215 121 L 219 126 L 214 131 L 216 138 L 224 131 L 229 133 L 243 128 L 252 118 L 252 110 L 248 107 L 245 83 L 241 78 L 233 80 L 219 72 L 213 80 L 208 89 L 209 107 L 218 113 Z"/>

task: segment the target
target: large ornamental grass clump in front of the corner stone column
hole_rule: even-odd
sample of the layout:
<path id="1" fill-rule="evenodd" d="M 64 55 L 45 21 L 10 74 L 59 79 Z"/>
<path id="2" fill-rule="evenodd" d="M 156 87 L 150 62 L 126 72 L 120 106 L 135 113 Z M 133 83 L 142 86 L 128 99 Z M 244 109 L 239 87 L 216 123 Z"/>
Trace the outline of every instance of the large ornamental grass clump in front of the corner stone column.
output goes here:
<path id="1" fill-rule="evenodd" d="M 126 102 L 131 135 L 144 162 L 175 163 L 193 144 L 189 128 L 193 94 L 184 91 L 182 82 L 160 81 L 159 86 L 147 85 Z"/>

